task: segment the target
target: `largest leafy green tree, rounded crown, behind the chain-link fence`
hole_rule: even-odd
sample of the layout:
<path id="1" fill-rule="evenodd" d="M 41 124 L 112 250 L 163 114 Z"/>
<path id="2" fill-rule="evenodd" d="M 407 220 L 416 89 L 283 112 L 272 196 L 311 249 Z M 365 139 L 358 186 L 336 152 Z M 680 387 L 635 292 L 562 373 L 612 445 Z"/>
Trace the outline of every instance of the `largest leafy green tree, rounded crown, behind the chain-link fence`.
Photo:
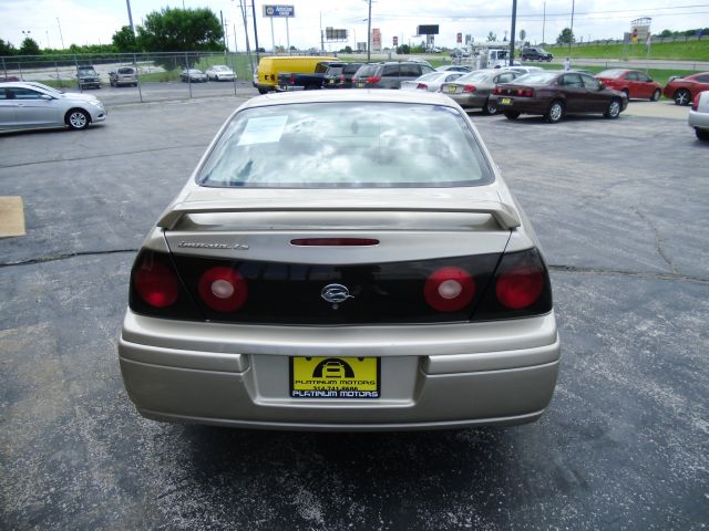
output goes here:
<path id="1" fill-rule="evenodd" d="M 145 17 L 137 45 L 150 52 L 223 50 L 224 31 L 210 9 L 163 8 Z"/>

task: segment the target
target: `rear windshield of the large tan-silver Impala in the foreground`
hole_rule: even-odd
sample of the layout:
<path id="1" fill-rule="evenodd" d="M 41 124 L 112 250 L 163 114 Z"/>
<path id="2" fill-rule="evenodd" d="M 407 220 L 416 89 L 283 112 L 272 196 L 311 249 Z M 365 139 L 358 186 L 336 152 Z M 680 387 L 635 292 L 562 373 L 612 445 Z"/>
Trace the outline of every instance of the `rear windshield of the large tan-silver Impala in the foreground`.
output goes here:
<path id="1" fill-rule="evenodd" d="M 493 180 L 460 112 L 409 103 L 307 103 L 238 113 L 197 181 L 208 187 L 477 186 Z"/>

